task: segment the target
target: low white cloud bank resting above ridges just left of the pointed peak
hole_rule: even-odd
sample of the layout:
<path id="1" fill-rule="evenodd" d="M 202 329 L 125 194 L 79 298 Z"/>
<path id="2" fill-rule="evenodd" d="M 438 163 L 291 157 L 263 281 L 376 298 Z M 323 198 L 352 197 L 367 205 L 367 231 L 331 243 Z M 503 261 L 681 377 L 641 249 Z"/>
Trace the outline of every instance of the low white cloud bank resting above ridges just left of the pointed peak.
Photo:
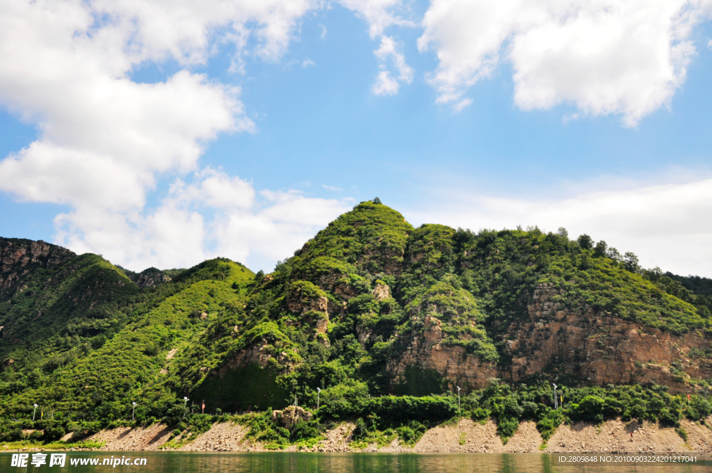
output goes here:
<path id="1" fill-rule="evenodd" d="M 216 256 L 269 271 L 350 207 L 347 199 L 293 191 L 257 194 L 252 184 L 211 169 L 194 177 L 192 184 L 174 182 L 149 212 L 81 207 L 61 214 L 57 243 L 137 271 L 189 267 Z"/>

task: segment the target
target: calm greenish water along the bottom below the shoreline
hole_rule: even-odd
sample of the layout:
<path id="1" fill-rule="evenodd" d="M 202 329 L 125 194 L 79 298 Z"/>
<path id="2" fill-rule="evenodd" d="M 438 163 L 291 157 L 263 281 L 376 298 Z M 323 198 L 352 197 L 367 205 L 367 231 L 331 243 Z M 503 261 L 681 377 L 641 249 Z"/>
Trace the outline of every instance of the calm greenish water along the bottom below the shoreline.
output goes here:
<path id="1" fill-rule="evenodd" d="M 712 462 L 698 464 L 559 464 L 555 454 L 388 454 L 388 453 L 201 453 L 201 452 L 63 452 L 65 466 L 11 466 L 10 453 L 0 453 L 0 473 L 566 473 L 566 472 L 712 472 Z M 145 459 L 144 465 L 112 467 L 113 458 Z M 98 465 L 77 465 L 98 459 Z"/>

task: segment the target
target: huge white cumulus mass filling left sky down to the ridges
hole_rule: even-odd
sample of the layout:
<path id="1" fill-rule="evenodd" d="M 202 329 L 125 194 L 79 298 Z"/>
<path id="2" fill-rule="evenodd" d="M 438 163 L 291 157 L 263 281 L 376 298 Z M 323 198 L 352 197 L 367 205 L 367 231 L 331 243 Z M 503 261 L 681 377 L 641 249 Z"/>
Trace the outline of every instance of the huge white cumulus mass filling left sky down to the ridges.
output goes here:
<path id="1" fill-rule="evenodd" d="M 239 88 L 191 68 L 225 41 L 234 43 L 236 63 L 246 55 L 275 61 L 299 19 L 320 6 L 316 0 L 0 1 L 0 105 L 39 131 L 35 142 L 0 162 L 0 191 L 67 204 L 72 210 L 55 219 L 58 244 L 130 269 L 189 266 L 218 254 L 263 262 L 287 256 L 344 205 L 258 194 L 239 177 L 201 169 L 206 141 L 251 132 L 254 124 Z M 167 60 L 182 70 L 157 83 L 130 79 L 136 68 Z M 169 173 L 181 177 L 147 207 L 147 193 Z M 249 236 L 251 228 L 260 239 Z"/>

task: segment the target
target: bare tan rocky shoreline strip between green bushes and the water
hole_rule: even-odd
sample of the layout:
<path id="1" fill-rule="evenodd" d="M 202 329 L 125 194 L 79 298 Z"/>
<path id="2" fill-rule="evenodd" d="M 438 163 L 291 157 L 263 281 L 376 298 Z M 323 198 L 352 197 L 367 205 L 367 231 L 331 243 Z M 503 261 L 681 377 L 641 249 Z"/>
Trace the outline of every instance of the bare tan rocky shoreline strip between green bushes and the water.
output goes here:
<path id="1" fill-rule="evenodd" d="M 712 417 L 708 418 L 712 424 Z M 600 425 L 577 422 L 561 425 L 554 435 L 544 442 L 534 422 L 522 422 L 506 444 L 497 435 L 492 420 L 485 424 L 462 419 L 456 425 L 443 425 L 428 430 L 413 447 L 399 445 L 394 440 L 389 445 L 368 445 L 364 449 L 350 447 L 355 425 L 342 422 L 325 433 L 325 439 L 312 447 L 290 446 L 286 452 L 422 452 L 422 453 L 666 453 L 698 452 L 712 454 L 712 430 L 706 425 L 682 420 L 687 432 L 683 440 L 671 427 L 644 422 L 609 420 Z M 248 429 L 232 422 L 216 423 L 195 440 L 182 445 L 179 451 L 199 452 L 267 452 L 260 442 L 245 438 Z M 631 435 L 632 434 L 632 435 Z M 103 450 L 172 450 L 165 443 L 170 430 L 164 425 L 149 427 L 119 427 L 103 430 L 88 438 L 103 442 Z"/>

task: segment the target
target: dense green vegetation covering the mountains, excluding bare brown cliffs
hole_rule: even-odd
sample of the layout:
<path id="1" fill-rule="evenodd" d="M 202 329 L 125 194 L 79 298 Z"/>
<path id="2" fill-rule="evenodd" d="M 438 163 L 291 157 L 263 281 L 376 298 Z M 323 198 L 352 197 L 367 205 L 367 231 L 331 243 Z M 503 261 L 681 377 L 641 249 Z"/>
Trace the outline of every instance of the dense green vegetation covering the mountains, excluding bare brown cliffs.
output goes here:
<path id="1" fill-rule="evenodd" d="M 357 422 L 357 445 L 384 445 L 412 444 L 459 416 L 493 417 L 506 440 L 522 420 L 537 422 L 546 439 L 561 422 L 622 417 L 675 426 L 709 414 L 700 395 L 688 402 L 661 386 L 590 386 L 561 377 L 555 365 L 518 385 L 460 383 L 460 410 L 454 385 L 437 370 L 414 364 L 394 374 L 394 362 L 434 321 L 444 347 L 461 347 L 485 366 L 506 365 L 504 335 L 528 317 L 538 288 L 582 316 L 712 335 L 711 280 L 641 269 L 634 254 L 586 235 L 571 240 L 564 229 L 415 229 L 393 209 L 362 202 L 270 274 L 227 259 L 136 274 L 54 248 L 52 264 L 13 266 L 0 279 L 6 441 L 80 438 L 126 424 L 132 402 L 134 422 L 169 422 L 176 445 L 210 422 L 239 420 L 251 438 L 275 448 L 308 445 L 346 419 Z M 155 287 L 135 284 L 148 277 Z M 552 380 L 568 386 L 560 410 Z M 318 389 L 313 421 L 286 430 L 271 420 L 271 409 L 295 400 L 315 409 Z M 193 413 L 202 401 L 206 414 Z M 52 412 L 50 423 L 31 424 L 33 403 Z M 20 425 L 43 437 L 18 437 Z"/>

